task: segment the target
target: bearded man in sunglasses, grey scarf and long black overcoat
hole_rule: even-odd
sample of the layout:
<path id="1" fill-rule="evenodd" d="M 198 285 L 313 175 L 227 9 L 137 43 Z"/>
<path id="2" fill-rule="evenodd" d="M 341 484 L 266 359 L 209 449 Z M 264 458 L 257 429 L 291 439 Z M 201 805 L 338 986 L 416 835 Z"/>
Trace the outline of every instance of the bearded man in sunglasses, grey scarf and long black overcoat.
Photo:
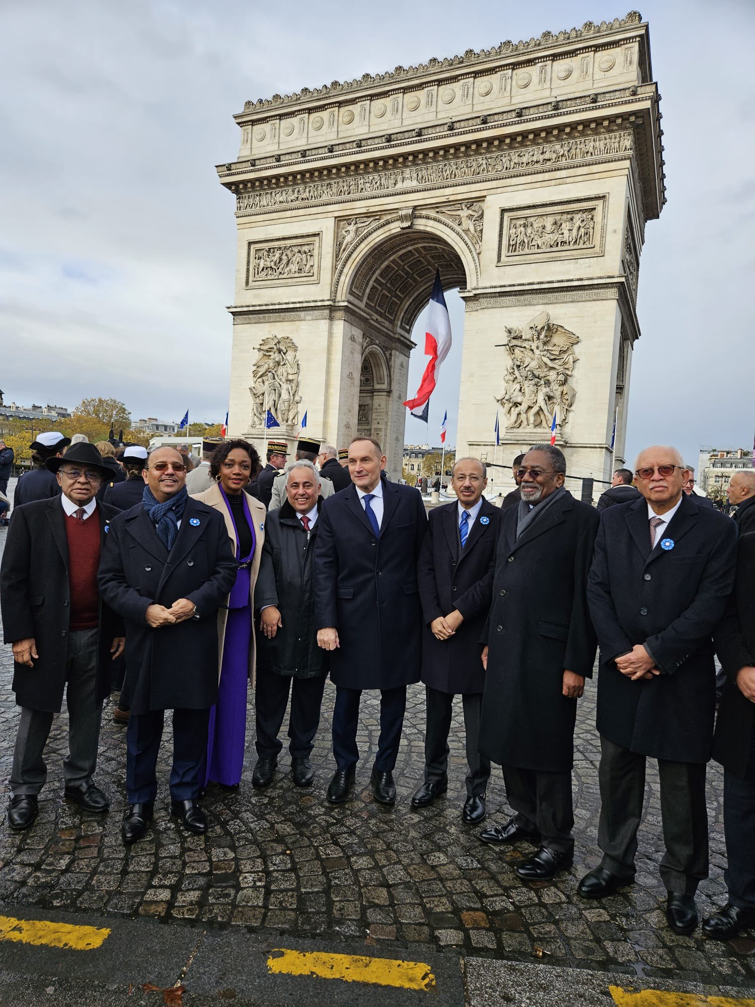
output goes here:
<path id="1" fill-rule="evenodd" d="M 597 649 L 587 576 L 600 519 L 564 487 L 559 448 L 532 447 L 516 476 L 521 499 L 501 517 L 483 635 L 479 742 L 503 767 L 515 814 L 480 839 L 530 840 L 538 850 L 514 871 L 542 881 L 570 867 L 574 855 L 574 725 Z"/>

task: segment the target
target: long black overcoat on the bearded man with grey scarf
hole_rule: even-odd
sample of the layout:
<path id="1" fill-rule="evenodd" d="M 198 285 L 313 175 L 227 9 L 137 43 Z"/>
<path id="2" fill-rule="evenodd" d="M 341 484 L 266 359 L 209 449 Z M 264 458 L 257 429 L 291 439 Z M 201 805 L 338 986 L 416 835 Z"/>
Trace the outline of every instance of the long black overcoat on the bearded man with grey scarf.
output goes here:
<path id="1" fill-rule="evenodd" d="M 563 677 L 593 672 L 587 575 L 600 519 L 567 491 L 518 541 L 517 520 L 518 508 L 503 513 L 495 552 L 479 746 L 501 765 L 568 772 L 578 701 Z"/>

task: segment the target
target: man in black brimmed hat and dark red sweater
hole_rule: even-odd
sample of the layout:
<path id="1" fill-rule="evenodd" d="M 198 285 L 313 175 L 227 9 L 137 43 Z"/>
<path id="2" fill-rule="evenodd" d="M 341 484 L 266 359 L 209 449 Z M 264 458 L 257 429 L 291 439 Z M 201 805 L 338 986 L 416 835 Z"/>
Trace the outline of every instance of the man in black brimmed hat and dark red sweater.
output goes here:
<path id="1" fill-rule="evenodd" d="M 13 645 L 13 691 L 21 707 L 8 808 L 8 824 L 17 832 L 36 818 L 47 778 L 44 746 L 64 690 L 64 796 L 89 812 L 110 807 L 93 776 L 112 661 L 124 648 L 121 620 L 100 601 L 97 584 L 100 552 L 118 514 L 97 500 L 109 469 L 97 448 L 84 443 L 45 464 L 61 492 L 14 511 L 0 567 L 5 642 Z"/>

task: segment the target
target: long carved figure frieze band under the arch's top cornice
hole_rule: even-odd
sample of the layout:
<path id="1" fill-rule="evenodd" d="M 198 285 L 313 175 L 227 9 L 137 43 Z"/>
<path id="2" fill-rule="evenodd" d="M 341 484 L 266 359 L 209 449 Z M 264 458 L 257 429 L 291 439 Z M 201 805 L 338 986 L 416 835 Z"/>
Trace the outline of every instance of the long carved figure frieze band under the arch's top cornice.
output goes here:
<path id="1" fill-rule="evenodd" d="M 633 149 L 633 134 L 630 129 L 588 133 L 564 140 L 551 140 L 523 147 L 503 147 L 482 154 L 375 170 L 355 176 L 344 175 L 325 181 L 281 184 L 273 189 L 243 192 L 237 196 L 237 212 L 255 213 L 314 202 L 337 202 L 357 196 L 417 191 L 418 187 L 449 181 L 484 180 L 559 164 L 627 155 Z"/>

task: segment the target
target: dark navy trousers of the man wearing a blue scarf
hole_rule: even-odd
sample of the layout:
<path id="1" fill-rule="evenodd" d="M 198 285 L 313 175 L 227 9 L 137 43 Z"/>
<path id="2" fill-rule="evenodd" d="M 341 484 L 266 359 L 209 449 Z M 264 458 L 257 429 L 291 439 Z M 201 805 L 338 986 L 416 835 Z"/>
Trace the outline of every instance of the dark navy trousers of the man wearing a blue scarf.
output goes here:
<path id="1" fill-rule="evenodd" d="M 151 803 L 157 796 L 157 753 L 164 710 L 131 714 L 126 728 L 126 790 L 129 804 Z M 209 710 L 173 710 L 173 765 L 170 797 L 195 801 L 207 761 Z"/>

